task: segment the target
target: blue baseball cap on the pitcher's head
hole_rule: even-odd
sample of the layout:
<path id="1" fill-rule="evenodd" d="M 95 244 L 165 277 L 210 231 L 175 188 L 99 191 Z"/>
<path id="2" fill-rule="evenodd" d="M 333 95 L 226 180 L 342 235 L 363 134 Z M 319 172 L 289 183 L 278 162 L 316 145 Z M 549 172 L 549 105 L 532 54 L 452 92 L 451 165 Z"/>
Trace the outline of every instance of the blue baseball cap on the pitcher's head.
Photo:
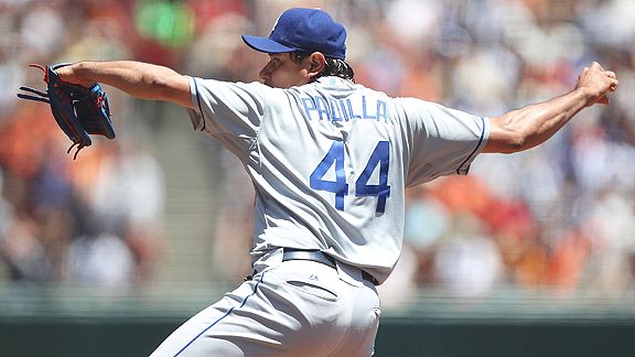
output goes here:
<path id="1" fill-rule="evenodd" d="M 326 57 L 346 57 L 346 29 L 320 9 L 289 9 L 278 18 L 269 37 L 243 35 L 260 52 L 321 52 Z"/>

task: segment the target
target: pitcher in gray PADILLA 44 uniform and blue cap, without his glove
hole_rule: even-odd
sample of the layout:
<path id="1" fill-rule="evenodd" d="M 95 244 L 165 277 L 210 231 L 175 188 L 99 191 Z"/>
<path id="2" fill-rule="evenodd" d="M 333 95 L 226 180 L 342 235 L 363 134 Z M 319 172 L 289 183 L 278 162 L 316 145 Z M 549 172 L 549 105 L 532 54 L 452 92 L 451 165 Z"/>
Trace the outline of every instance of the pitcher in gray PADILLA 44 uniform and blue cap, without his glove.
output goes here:
<path id="1" fill-rule="evenodd" d="M 346 31 L 319 9 L 287 10 L 267 37 L 243 40 L 269 55 L 261 83 L 128 61 L 56 69 L 66 83 L 186 108 L 254 183 L 254 274 L 152 356 L 373 355 L 376 285 L 399 258 L 405 190 L 465 175 L 481 153 L 536 147 L 617 88 L 615 73 L 593 63 L 571 91 L 484 118 L 355 84 Z"/>

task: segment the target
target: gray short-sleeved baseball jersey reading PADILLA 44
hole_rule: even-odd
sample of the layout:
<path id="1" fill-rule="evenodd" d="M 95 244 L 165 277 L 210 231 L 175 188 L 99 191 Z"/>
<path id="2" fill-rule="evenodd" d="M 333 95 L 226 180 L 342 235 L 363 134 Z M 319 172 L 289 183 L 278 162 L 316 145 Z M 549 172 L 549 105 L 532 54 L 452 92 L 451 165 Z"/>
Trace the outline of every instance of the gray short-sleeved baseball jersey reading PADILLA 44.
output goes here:
<path id="1" fill-rule="evenodd" d="M 405 190 L 466 174 L 488 121 L 337 77 L 289 89 L 189 77 L 196 130 L 245 165 L 255 247 L 320 249 L 384 282 L 401 249 Z"/>

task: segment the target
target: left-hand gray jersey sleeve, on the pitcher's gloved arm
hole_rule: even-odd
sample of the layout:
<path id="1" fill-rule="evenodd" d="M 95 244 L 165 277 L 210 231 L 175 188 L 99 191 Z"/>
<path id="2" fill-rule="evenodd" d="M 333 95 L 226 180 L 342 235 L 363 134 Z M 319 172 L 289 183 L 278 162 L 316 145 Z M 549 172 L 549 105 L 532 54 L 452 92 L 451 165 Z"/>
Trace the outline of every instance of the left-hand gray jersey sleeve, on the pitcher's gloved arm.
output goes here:
<path id="1" fill-rule="evenodd" d="M 267 89 L 260 83 L 229 83 L 189 77 L 194 130 L 217 139 L 241 161 L 254 144 L 265 115 Z"/>

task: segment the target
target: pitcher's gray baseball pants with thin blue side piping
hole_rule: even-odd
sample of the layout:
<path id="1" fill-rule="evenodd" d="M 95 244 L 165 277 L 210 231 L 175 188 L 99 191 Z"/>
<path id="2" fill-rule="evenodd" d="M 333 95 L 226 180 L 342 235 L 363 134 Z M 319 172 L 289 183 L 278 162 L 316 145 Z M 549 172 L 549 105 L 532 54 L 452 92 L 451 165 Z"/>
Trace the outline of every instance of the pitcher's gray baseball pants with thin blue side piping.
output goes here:
<path id="1" fill-rule="evenodd" d="M 375 286 L 305 260 L 255 264 L 249 281 L 174 331 L 151 355 L 372 356 L 379 324 Z"/>

